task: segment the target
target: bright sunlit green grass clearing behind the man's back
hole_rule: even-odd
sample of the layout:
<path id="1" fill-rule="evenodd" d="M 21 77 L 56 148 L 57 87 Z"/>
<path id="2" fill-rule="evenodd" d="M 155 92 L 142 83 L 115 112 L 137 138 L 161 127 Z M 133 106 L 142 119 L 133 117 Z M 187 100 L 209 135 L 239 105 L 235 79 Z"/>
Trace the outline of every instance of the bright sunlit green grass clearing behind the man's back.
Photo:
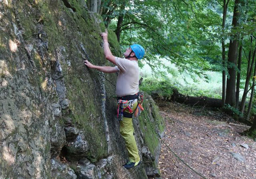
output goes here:
<path id="1" fill-rule="evenodd" d="M 141 69 L 143 83 L 140 87 L 148 93 L 152 91 L 160 92 L 162 95 L 171 95 L 173 88 L 179 90 L 184 95 L 207 96 L 210 98 L 219 98 L 222 96 L 222 73 L 206 72 L 208 79 L 198 76 L 191 77 L 191 74 L 185 72 L 179 73 L 178 69 L 170 65 L 171 73 L 167 77 L 153 77 L 149 66 L 145 65 Z M 162 70 L 165 71 L 164 69 Z"/>

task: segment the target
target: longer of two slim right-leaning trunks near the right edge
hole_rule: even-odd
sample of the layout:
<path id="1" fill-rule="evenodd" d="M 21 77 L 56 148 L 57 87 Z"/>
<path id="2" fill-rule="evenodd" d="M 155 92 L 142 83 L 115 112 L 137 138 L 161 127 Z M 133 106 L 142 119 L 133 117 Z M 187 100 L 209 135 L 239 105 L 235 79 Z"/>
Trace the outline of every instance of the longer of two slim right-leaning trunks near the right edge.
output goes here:
<path id="1" fill-rule="evenodd" d="M 253 36 L 251 36 L 251 45 L 253 43 Z M 253 64 L 254 64 L 254 56 L 255 56 L 255 50 L 253 52 L 253 60 L 252 60 L 252 63 L 251 62 L 251 54 L 252 54 L 252 50 L 250 50 L 249 52 L 249 57 L 248 57 L 248 65 L 247 65 L 247 75 L 246 75 L 246 81 L 245 81 L 245 85 L 244 85 L 244 93 L 243 93 L 243 97 L 242 97 L 242 100 L 241 100 L 241 106 L 240 106 L 240 111 L 241 113 L 244 113 L 244 106 L 245 106 L 245 101 L 246 101 L 246 98 L 247 98 L 247 93 L 248 93 L 248 87 L 249 87 L 249 82 L 250 82 L 250 78 L 251 78 L 251 75 L 252 75 L 252 71 L 253 71 Z"/>

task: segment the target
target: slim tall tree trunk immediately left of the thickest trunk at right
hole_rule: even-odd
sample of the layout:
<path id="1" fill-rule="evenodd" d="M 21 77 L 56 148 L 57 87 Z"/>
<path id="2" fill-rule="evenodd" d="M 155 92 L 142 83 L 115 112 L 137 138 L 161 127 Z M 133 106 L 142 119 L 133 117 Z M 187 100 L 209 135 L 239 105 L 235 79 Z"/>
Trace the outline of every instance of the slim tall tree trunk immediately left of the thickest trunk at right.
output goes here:
<path id="1" fill-rule="evenodd" d="M 224 34 L 228 2 L 226 3 L 226 0 L 223 1 L 222 35 Z M 224 68 L 224 70 L 222 71 L 222 106 L 224 106 L 225 98 L 226 98 L 226 71 L 225 71 L 226 59 L 225 59 L 225 39 L 223 37 L 222 37 L 222 66 Z"/>

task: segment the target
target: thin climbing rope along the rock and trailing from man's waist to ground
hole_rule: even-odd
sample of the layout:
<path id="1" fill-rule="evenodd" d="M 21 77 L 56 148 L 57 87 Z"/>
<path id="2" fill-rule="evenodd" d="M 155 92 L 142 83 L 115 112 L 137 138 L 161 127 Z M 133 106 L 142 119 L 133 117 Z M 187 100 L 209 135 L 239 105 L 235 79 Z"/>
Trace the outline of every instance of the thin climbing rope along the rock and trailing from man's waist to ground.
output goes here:
<path id="1" fill-rule="evenodd" d="M 86 57 L 89 61 L 92 61 L 93 63 L 95 63 L 93 60 L 91 60 L 88 56 L 88 54 L 86 53 L 83 44 L 80 43 L 80 46 L 83 50 L 83 52 L 86 54 Z M 100 76 L 102 76 L 103 78 L 105 78 L 104 75 L 102 75 L 100 72 L 96 71 Z M 108 81 L 111 85 L 113 85 L 114 87 L 116 87 L 115 84 L 113 84 L 111 81 L 109 81 L 107 78 L 105 78 L 106 81 Z M 111 94 L 111 97 L 114 97 L 114 95 L 112 95 L 112 93 L 108 90 L 108 88 L 106 87 L 106 90 Z M 188 168 L 190 168 L 194 173 L 196 173 L 197 175 L 199 175 L 200 177 L 202 177 L 203 179 L 207 179 L 205 176 L 201 175 L 200 173 L 198 173 L 196 170 L 194 170 L 192 167 L 190 167 L 185 161 L 182 160 L 182 158 L 180 158 L 168 145 L 167 143 L 164 142 L 164 140 L 162 139 L 162 137 L 160 136 L 160 134 L 157 133 L 157 131 L 153 128 L 153 126 L 151 125 L 151 122 L 148 121 L 148 119 L 145 117 L 144 113 L 142 112 L 142 115 L 144 116 L 145 120 L 148 122 L 149 126 L 151 127 L 151 129 L 154 131 L 154 133 L 157 135 L 157 138 L 165 145 L 167 146 L 167 148 L 170 150 L 170 152 L 173 153 L 174 156 L 176 156 L 176 158 L 178 158 L 183 164 L 185 164 Z"/>

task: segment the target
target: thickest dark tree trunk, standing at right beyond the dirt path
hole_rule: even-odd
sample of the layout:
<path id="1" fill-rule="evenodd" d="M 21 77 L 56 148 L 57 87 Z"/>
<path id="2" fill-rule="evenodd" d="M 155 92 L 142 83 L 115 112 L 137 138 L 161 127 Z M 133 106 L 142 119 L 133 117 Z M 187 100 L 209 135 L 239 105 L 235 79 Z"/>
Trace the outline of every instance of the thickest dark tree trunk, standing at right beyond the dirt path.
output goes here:
<path id="1" fill-rule="evenodd" d="M 238 19 L 240 17 L 240 12 L 238 10 L 238 5 L 240 0 L 235 0 L 234 2 L 234 15 L 232 20 L 232 26 L 235 28 L 238 25 Z M 226 99 L 225 103 L 230 104 L 231 106 L 235 106 L 235 85 L 236 85 L 236 71 L 235 65 L 237 60 L 237 38 L 238 35 L 235 34 L 234 38 L 230 39 L 229 49 L 228 49 L 228 63 L 230 66 L 228 67 L 229 79 L 227 79 L 227 89 L 226 89 Z M 231 65 L 233 64 L 233 65 Z"/>

